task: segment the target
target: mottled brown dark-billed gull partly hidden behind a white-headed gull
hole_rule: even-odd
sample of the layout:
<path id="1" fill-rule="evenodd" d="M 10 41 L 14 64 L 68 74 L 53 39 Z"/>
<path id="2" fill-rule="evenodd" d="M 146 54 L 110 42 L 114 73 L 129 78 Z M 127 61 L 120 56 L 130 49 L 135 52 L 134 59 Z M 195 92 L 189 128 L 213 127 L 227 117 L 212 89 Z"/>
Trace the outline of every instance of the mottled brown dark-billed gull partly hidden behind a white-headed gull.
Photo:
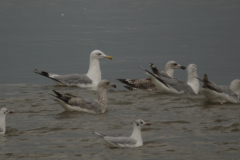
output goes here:
<path id="1" fill-rule="evenodd" d="M 150 67 L 154 67 L 152 63 L 149 64 Z M 186 70 L 186 67 L 178 64 L 175 61 L 169 61 L 165 65 L 165 72 L 159 72 L 164 77 L 169 77 L 173 78 L 173 73 L 175 69 L 183 69 Z M 129 90 L 133 89 L 146 89 L 146 90 L 153 90 L 156 91 L 156 86 L 152 83 L 151 78 L 146 78 L 146 79 L 117 79 L 120 82 L 126 84 L 127 86 L 124 86 L 125 88 Z"/>

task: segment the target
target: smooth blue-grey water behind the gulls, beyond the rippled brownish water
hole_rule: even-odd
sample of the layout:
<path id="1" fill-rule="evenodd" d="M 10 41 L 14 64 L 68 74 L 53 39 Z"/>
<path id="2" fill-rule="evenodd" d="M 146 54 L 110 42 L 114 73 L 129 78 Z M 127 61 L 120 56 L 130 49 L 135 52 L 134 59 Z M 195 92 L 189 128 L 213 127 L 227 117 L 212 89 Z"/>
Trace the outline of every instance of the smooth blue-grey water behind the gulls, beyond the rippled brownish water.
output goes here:
<path id="1" fill-rule="evenodd" d="M 169 60 L 198 66 L 227 85 L 240 78 L 240 2 L 230 0 L 0 2 L 1 84 L 54 84 L 34 74 L 86 73 L 99 49 L 103 78 L 146 77 L 139 65 L 160 70 Z M 175 74 L 186 80 L 185 71 Z"/>

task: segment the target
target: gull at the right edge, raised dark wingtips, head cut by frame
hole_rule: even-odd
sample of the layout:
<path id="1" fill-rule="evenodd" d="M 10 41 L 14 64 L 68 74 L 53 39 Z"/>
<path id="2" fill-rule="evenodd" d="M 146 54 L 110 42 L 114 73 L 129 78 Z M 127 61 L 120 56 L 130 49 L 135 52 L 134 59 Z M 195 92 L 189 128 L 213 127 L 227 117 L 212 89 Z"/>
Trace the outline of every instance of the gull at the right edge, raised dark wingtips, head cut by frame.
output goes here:
<path id="1" fill-rule="evenodd" d="M 197 79 L 204 83 L 201 92 L 208 101 L 219 102 L 220 104 L 223 104 L 224 102 L 239 103 L 239 79 L 233 80 L 228 87 L 218 86 L 214 82 L 209 81 L 207 74 L 204 74 L 203 80 L 201 80 L 200 78 Z"/>

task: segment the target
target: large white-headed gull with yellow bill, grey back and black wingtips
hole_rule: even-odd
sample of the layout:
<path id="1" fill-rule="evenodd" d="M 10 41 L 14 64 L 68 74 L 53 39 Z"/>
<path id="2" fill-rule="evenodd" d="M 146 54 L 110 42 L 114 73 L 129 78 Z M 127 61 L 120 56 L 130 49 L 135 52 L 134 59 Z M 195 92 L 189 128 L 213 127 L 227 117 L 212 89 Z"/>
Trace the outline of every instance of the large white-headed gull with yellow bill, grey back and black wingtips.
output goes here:
<path id="1" fill-rule="evenodd" d="M 108 58 L 112 60 L 111 56 L 105 55 L 100 50 L 94 50 L 90 54 L 90 65 L 87 74 L 69 74 L 58 75 L 40 71 L 35 69 L 35 73 L 48 77 L 56 82 L 58 85 L 66 86 L 79 86 L 79 87 L 97 87 L 101 81 L 101 70 L 99 60 L 102 58 Z"/>

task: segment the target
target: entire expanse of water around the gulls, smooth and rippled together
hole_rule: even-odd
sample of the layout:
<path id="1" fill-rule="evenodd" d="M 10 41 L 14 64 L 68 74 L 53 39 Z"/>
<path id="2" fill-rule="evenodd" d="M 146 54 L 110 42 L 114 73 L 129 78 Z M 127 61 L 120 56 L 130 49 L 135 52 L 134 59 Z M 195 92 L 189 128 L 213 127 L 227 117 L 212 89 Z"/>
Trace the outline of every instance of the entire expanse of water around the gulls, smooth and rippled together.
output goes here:
<path id="1" fill-rule="evenodd" d="M 239 159 L 240 105 L 211 104 L 204 96 L 127 91 L 117 78 L 145 78 L 138 66 L 163 70 L 175 60 L 197 64 L 198 75 L 229 85 L 239 75 L 238 1 L 2 1 L 0 108 L 7 132 L 0 159 Z M 100 49 L 108 91 L 104 114 L 69 113 L 51 90 L 94 98 L 96 92 L 59 87 L 33 70 L 86 73 Z M 187 73 L 175 77 L 186 81 Z M 97 131 L 129 136 L 138 118 L 144 146 L 109 148 Z"/>

